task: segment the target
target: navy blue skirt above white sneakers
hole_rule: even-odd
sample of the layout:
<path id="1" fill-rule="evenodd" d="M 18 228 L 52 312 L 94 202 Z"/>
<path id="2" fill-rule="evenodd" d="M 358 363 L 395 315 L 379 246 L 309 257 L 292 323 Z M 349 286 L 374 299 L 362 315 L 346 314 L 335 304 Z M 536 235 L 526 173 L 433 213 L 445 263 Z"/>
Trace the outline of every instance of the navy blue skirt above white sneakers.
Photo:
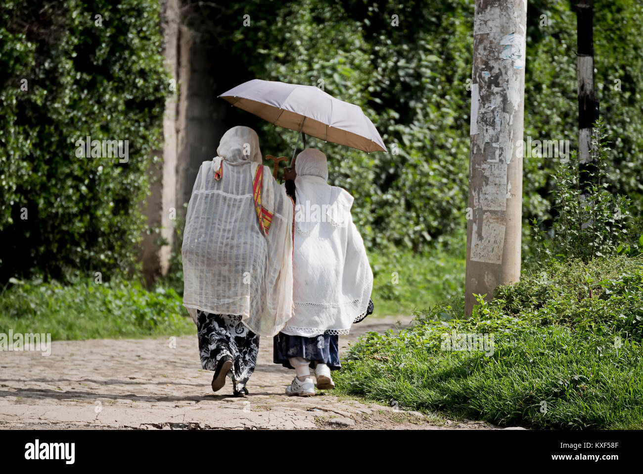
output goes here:
<path id="1" fill-rule="evenodd" d="M 294 368 L 288 359 L 302 357 L 311 361 L 311 368 L 315 362 L 328 365 L 331 370 L 341 368 L 340 349 L 337 334 L 320 334 L 319 336 L 303 337 L 289 336 L 280 332 L 275 336 L 273 344 L 273 361 L 287 368 Z"/>

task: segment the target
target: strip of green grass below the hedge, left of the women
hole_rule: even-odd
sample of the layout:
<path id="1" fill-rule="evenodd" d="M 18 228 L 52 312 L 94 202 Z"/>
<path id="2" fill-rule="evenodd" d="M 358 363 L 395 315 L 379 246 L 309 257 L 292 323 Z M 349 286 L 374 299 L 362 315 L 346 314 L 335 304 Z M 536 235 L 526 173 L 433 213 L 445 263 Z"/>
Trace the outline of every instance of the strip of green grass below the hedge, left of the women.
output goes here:
<path id="1" fill-rule="evenodd" d="M 51 333 L 52 339 L 145 337 L 194 333 L 181 297 L 138 281 L 16 281 L 0 293 L 0 333 Z"/>

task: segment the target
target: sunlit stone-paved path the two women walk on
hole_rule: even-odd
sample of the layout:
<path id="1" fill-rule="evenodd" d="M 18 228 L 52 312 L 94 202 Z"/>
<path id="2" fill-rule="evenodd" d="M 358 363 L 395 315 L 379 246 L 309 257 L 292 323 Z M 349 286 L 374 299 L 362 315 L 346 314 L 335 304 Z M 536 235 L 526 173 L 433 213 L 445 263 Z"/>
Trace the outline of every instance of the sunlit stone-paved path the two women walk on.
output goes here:
<path id="1" fill-rule="evenodd" d="M 399 327 L 396 321 L 404 326 L 410 318 L 365 319 L 354 334 L 340 336 L 341 351 L 367 331 Z M 0 428 L 494 428 L 332 392 L 287 397 L 292 378 L 292 370 L 272 363 L 267 339 L 246 398 L 231 397 L 229 382 L 212 392 L 212 372 L 201 370 L 195 335 L 55 341 L 48 357 L 0 352 Z"/>

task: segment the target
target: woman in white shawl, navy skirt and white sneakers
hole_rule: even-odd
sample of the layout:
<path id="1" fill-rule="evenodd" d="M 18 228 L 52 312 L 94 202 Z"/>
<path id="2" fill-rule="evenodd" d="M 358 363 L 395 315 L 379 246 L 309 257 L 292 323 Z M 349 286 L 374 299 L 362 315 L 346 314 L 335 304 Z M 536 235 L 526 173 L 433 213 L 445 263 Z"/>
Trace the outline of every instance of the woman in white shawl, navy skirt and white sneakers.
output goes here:
<path id="1" fill-rule="evenodd" d="M 294 171 L 293 318 L 275 337 L 273 361 L 296 372 L 286 393 L 308 396 L 311 367 L 317 388 L 334 388 L 338 334 L 372 312 L 373 272 L 350 215 L 353 197 L 327 184 L 326 156 L 305 149 Z"/>

